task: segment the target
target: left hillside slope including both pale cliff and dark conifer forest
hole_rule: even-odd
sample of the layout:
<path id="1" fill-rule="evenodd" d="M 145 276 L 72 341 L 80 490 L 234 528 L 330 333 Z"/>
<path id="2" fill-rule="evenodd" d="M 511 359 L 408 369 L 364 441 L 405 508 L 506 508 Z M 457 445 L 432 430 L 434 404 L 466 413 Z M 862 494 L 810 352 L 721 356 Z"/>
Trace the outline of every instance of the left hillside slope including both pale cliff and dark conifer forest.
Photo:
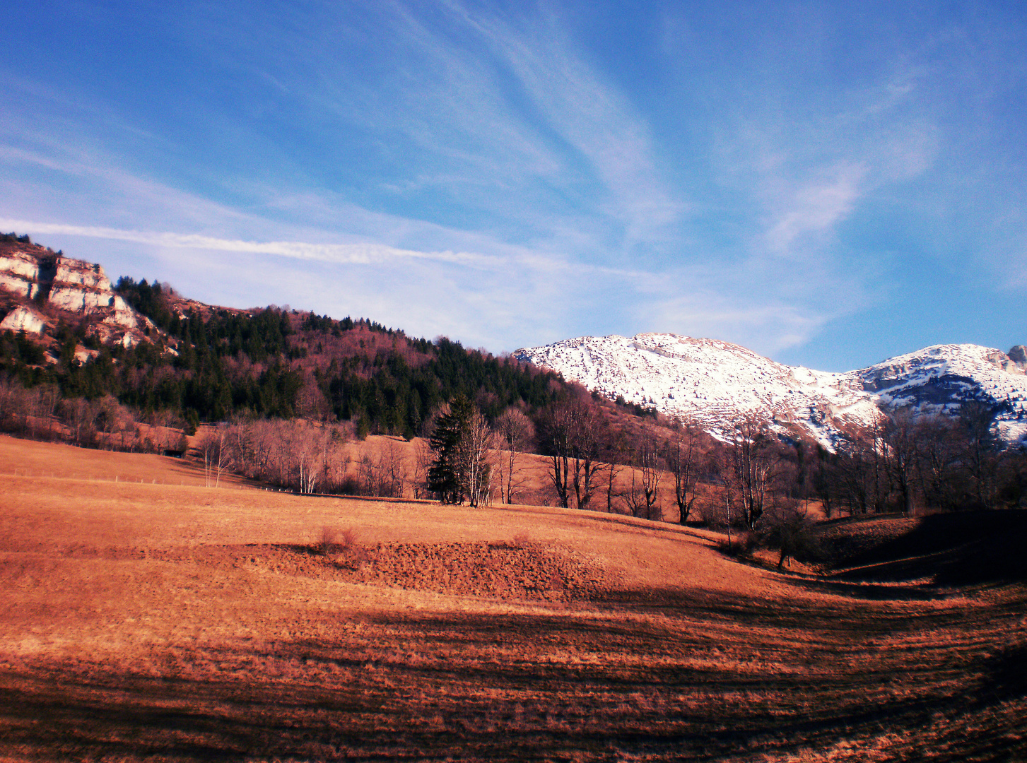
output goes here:
<path id="1" fill-rule="evenodd" d="M 145 279 L 112 288 L 99 265 L 13 234 L 0 241 L 0 372 L 23 386 L 110 395 L 186 429 L 303 416 L 413 436 L 458 392 L 490 418 L 568 393 L 551 372 L 369 319 L 202 305 Z"/>

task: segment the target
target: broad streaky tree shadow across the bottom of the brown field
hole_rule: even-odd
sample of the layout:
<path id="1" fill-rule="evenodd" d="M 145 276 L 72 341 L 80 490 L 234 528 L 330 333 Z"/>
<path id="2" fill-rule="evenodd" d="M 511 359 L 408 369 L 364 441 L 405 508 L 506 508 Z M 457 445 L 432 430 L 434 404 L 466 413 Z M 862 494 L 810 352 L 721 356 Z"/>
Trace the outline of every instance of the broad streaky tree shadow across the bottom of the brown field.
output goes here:
<path id="1" fill-rule="evenodd" d="M 1027 647 L 973 645 L 982 625 L 1015 628 L 1022 612 L 1020 599 L 911 613 L 699 587 L 577 609 L 369 612 L 331 638 L 165 647 L 138 672 L 8 665 L 0 749 L 48 760 L 750 759 L 888 734 L 915 752 L 945 718 L 980 733 L 953 726 L 937 760 L 990 760 L 980 756 L 1016 745 L 992 733 L 996 708 L 1016 738 L 1027 733 Z M 907 633 L 934 641 L 907 648 Z"/>

